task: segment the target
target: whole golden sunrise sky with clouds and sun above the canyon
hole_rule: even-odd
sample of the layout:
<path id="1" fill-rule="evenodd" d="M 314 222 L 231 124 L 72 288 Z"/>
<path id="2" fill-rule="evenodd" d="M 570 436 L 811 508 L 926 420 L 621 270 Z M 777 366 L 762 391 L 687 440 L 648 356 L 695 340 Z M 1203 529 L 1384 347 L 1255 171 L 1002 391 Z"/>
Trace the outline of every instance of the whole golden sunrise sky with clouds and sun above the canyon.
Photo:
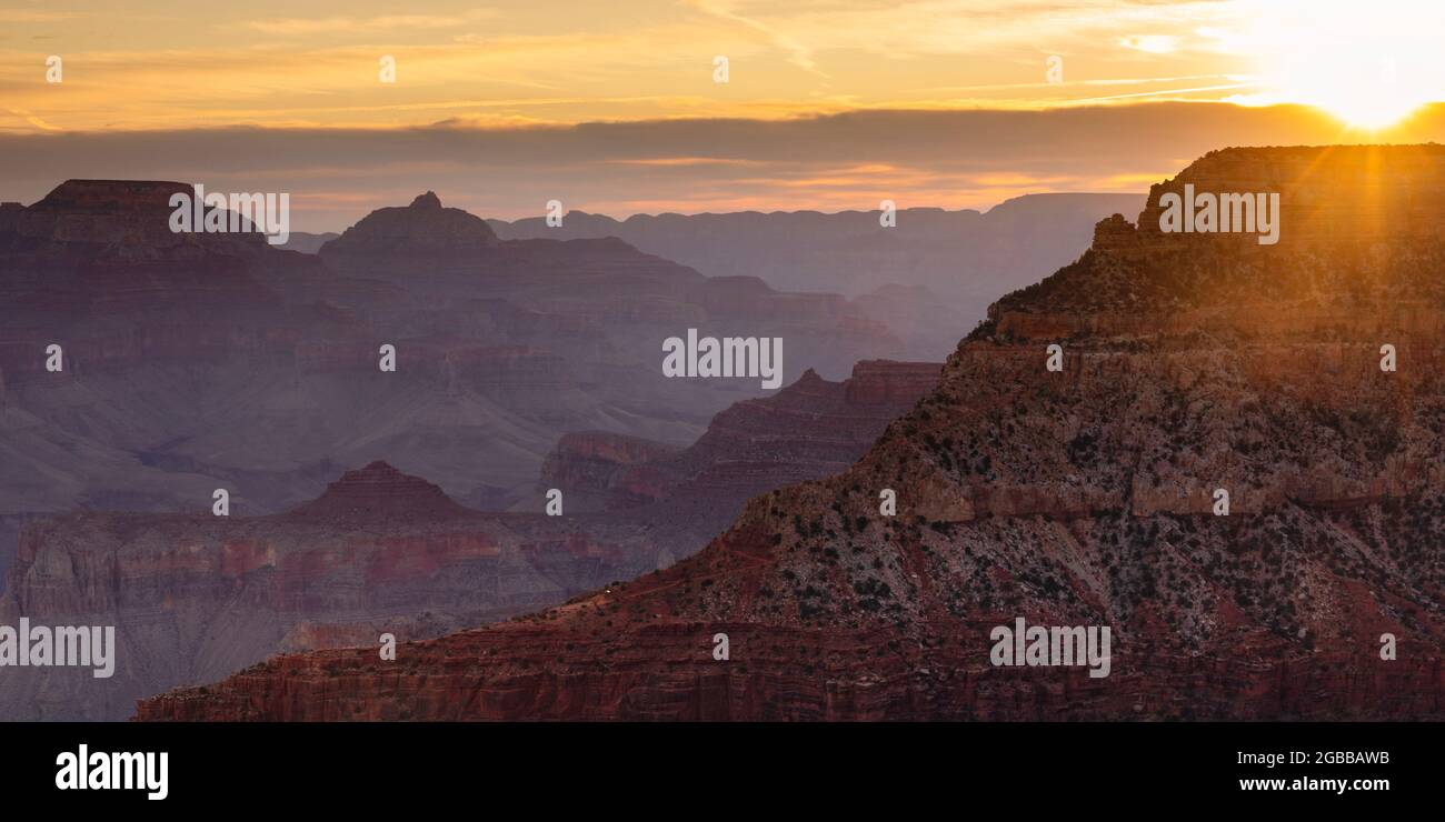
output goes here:
<path id="1" fill-rule="evenodd" d="M 1445 140 L 1442 43 L 1438 1 L 0 0 L 0 199 L 176 179 L 321 231 L 426 189 L 504 218 L 1137 192 L 1227 144 Z"/>

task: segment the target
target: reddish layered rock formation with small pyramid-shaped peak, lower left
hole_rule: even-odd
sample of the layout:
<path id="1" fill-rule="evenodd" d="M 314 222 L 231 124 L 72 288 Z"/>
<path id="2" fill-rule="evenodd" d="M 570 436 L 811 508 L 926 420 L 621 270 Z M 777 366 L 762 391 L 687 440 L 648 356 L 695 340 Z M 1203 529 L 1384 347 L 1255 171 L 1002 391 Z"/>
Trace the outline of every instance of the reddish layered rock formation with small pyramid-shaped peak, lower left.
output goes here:
<path id="1" fill-rule="evenodd" d="M 438 636 L 655 566 L 633 529 L 483 514 L 384 462 L 263 517 L 85 513 L 25 527 L 0 624 L 116 626 L 116 675 L 7 667 L 6 719 L 118 719 L 283 650 Z"/>

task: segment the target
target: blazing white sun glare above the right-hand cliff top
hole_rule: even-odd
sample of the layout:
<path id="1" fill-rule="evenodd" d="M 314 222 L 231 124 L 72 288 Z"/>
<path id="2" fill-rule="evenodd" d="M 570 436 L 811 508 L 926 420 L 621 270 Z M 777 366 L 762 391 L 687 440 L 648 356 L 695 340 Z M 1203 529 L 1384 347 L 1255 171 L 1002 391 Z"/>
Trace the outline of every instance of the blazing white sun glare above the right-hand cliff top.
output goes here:
<path id="1" fill-rule="evenodd" d="M 1394 126 L 1445 92 L 1445 3 L 1269 0 L 1240 38 L 1257 101 L 1314 105 L 1347 126 Z"/>

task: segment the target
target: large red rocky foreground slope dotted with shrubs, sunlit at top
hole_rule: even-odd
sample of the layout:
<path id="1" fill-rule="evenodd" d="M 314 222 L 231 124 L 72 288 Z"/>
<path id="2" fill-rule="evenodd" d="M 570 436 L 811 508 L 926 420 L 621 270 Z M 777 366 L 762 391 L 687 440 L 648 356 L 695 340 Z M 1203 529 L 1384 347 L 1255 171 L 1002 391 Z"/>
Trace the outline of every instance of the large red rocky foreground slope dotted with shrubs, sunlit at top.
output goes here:
<path id="1" fill-rule="evenodd" d="M 1279 192 L 1280 243 L 1162 234 L 1186 182 Z M 1209 153 L 1000 299 L 857 464 L 753 498 L 698 555 L 137 718 L 1442 718 L 1442 234 L 1445 146 Z M 1020 615 L 1111 626 L 1111 676 L 991 667 Z"/>

